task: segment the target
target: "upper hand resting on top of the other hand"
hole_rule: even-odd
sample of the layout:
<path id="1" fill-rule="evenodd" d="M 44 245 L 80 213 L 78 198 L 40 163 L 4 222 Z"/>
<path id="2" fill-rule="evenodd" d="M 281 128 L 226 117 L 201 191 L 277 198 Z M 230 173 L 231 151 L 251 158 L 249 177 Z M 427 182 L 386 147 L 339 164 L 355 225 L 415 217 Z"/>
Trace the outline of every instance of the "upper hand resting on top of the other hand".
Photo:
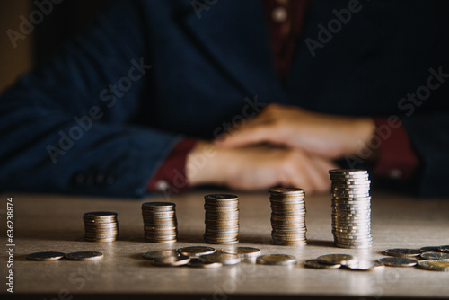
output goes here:
<path id="1" fill-rule="evenodd" d="M 289 146 L 307 154 L 338 159 L 357 154 L 374 134 L 374 120 L 343 117 L 270 104 L 254 119 L 216 140 L 227 148 L 259 143 Z"/>

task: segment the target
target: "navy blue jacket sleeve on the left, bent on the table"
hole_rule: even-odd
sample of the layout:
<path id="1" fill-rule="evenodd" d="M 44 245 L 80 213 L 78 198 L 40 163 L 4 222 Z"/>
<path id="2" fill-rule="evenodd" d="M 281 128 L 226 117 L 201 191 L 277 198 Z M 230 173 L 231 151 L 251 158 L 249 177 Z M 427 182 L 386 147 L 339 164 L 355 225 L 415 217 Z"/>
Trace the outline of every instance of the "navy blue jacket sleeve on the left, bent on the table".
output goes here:
<path id="1" fill-rule="evenodd" d="M 111 5 L 0 98 L 1 190 L 145 195 L 182 137 L 127 123 L 151 80 L 142 12 Z"/>

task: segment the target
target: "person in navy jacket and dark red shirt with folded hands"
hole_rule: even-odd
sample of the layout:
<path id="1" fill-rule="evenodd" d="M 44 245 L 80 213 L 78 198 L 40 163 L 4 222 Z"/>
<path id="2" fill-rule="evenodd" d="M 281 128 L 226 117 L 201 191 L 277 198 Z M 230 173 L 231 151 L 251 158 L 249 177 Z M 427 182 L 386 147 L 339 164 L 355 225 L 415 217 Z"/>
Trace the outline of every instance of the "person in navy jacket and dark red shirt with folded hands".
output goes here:
<path id="1" fill-rule="evenodd" d="M 1 97 L 1 189 L 313 193 L 369 168 L 449 196 L 448 8 L 117 1 Z"/>

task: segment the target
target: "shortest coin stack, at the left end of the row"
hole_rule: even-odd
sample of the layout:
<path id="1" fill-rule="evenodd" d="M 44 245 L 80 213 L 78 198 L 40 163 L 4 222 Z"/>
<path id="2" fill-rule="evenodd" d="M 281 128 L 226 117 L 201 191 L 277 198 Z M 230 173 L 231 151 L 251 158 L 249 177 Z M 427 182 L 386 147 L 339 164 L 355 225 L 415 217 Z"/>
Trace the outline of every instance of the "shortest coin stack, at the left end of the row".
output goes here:
<path id="1" fill-rule="evenodd" d="M 84 240 L 89 242 L 112 242 L 119 234 L 119 223 L 117 213 L 97 211 L 85 213 Z"/>

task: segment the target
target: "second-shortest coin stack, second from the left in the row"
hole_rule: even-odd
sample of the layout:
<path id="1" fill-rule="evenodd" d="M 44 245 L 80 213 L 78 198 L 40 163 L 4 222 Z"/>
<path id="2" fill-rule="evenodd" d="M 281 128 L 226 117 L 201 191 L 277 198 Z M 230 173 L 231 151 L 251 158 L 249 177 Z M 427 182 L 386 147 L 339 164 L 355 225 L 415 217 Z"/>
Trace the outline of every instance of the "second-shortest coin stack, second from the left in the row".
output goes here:
<path id="1" fill-rule="evenodd" d="M 170 202 L 145 202 L 142 204 L 145 241 L 173 243 L 178 236 L 176 205 Z"/>

